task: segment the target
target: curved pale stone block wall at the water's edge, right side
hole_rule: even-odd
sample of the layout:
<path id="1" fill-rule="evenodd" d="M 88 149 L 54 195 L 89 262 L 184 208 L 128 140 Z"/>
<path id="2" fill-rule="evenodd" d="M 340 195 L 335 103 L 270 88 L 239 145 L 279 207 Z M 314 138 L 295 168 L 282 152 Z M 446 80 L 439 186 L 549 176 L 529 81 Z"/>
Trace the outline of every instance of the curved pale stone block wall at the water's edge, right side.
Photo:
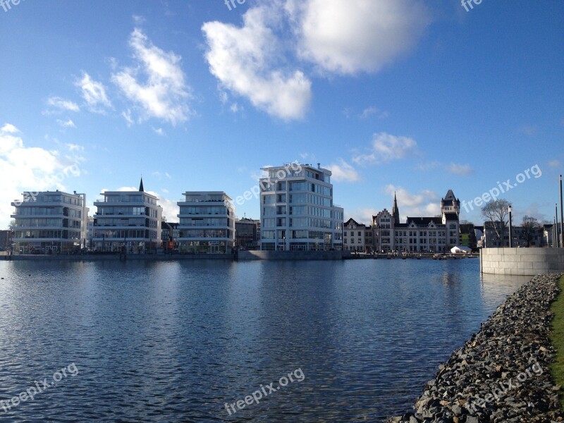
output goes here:
<path id="1" fill-rule="evenodd" d="M 480 271 L 522 276 L 564 272 L 564 248 L 482 248 Z"/>

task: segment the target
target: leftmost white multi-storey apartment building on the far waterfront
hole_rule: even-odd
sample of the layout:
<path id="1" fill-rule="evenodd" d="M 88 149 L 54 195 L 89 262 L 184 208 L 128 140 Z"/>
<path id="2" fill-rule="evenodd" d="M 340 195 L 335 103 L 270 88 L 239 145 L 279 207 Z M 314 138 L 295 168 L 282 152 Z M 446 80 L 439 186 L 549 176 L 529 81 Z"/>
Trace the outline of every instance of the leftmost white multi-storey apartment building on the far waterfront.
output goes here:
<path id="1" fill-rule="evenodd" d="M 86 195 L 68 192 L 23 192 L 14 200 L 14 254 L 68 254 L 84 247 Z"/>

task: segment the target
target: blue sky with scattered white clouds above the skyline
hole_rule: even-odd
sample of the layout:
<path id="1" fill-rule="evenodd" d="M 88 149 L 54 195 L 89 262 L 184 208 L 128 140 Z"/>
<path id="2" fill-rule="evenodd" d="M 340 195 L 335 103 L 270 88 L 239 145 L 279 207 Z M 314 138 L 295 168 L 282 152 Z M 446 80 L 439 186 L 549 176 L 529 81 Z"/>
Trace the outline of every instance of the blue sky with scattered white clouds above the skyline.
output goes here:
<path id="1" fill-rule="evenodd" d="M 552 221 L 563 2 L 234 4 L 0 6 L 0 226 L 24 190 L 92 204 L 141 175 L 176 221 L 183 192 L 235 199 L 295 160 L 331 168 L 346 219 L 369 223 L 395 191 L 401 216 L 434 216 L 448 189 L 470 202 L 509 179 L 518 220 Z M 237 214 L 258 218 L 258 200 Z"/>

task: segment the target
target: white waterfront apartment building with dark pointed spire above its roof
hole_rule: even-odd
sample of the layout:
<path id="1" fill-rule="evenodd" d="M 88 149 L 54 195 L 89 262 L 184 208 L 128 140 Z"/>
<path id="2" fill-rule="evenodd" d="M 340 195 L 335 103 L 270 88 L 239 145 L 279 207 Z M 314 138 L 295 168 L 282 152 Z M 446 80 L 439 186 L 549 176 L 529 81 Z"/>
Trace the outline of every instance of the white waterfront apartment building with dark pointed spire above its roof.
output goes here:
<path id="1" fill-rule="evenodd" d="M 92 244 L 100 252 L 142 254 L 161 245 L 162 208 L 159 199 L 143 190 L 106 191 L 94 202 Z"/>

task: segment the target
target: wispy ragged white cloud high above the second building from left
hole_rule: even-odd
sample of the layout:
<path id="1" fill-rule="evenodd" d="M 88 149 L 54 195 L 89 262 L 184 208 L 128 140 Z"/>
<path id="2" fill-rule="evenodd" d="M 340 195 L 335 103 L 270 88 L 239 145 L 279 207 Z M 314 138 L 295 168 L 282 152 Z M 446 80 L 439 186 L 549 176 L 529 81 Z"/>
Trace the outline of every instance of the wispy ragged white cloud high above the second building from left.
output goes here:
<path id="1" fill-rule="evenodd" d="M 188 105 L 190 87 L 180 68 L 180 56 L 159 49 L 138 28 L 131 33 L 129 45 L 137 64 L 113 74 L 112 80 L 140 109 L 142 119 L 159 118 L 173 125 L 187 121 L 192 113 Z M 141 72 L 146 75 L 145 82 L 141 81 Z"/>

